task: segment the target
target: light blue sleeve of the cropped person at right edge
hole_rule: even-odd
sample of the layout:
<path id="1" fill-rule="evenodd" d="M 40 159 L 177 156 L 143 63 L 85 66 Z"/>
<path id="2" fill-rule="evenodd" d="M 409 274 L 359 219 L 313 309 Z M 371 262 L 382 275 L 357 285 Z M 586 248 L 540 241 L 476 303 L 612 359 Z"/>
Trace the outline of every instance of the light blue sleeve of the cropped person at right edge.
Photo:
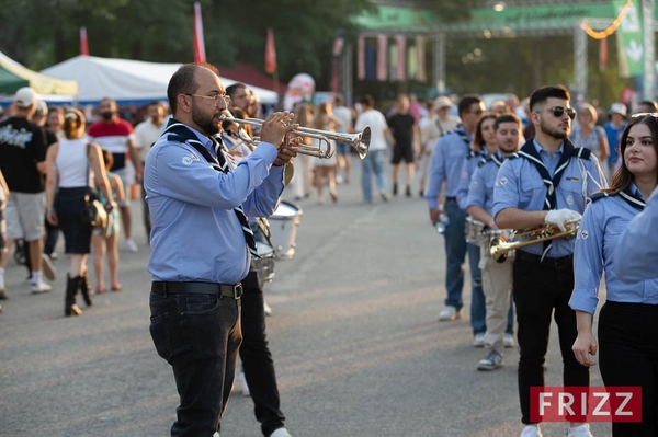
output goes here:
<path id="1" fill-rule="evenodd" d="M 658 189 L 644 211 L 626 227 L 614 254 L 613 271 L 621 280 L 658 278 Z"/>

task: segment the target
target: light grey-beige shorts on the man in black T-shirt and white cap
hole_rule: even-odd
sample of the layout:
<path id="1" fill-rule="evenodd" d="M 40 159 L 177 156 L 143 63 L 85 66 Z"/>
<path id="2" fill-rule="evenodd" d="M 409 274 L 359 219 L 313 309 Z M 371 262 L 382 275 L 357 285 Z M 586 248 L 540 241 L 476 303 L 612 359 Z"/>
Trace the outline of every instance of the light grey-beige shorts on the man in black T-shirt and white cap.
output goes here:
<path id="1" fill-rule="evenodd" d="M 4 209 L 7 238 L 23 239 L 27 242 L 44 235 L 44 215 L 46 214 L 45 193 L 9 193 Z"/>

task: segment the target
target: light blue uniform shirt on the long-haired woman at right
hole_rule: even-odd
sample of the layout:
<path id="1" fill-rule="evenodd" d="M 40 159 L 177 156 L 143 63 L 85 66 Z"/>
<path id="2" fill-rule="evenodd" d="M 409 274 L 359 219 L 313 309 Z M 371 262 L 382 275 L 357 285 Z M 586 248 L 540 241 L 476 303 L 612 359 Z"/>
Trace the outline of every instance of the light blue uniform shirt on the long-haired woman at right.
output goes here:
<path id="1" fill-rule="evenodd" d="M 635 185 L 631 189 L 642 198 Z M 638 209 L 628 205 L 620 195 L 597 199 L 587 207 L 574 252 L 575 283 L 569 300 L 571 309 L 594 313 L 603 269 L 608 300 L 658 304 L 658 279 L 623 283 L 613 268 L 613 254 L 617 251 L 622 233 L 637 214 Z M 633 254 L 633 257 L 636 256 L 637 254 Z"/>

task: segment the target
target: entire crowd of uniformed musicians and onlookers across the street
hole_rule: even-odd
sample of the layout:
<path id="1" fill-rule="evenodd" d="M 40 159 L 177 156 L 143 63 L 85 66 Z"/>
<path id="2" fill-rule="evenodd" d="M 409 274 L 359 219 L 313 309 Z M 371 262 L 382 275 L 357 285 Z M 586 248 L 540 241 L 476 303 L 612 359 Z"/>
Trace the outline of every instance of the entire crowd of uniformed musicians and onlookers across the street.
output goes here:
<path id="1" fill-rule="evenodd" d="M 501 368 L 504 349 L 518 344 L 521 436 L 542 436 L 541 423 L 531 418 L 530 389 L 544 386 L 552 319 L 564 386 L 588 387 L 599 354 L 606 386 L 643 388 L 643 421 L 614 423 L 613 435 L 656 434 L 658 281 L 643 268 L 646 263 L 633 265 L 634 257 L 620 255 L 633 249 L 625 246 L 626 234 L 647 238 L 649 226 L 633 223 L 657 216 L 648 208 L 656 205 L 651 193 L 658 184 L 655 102 L 642 102 L 631 116 L 626 105 L 614 103 L 605 123 L 593 104 L 572 107 L 563 85 L 490 107 L 476 94 L 423 104 L 399 94 L 382 112 L 371 95 L 353 107 L 337 95 L 273 112 L 251 126 L 223 117 L 262 118 L 254 94 L 242 83 L 224 89 L 206 64 L 182 66 L 171 78 L 168 101 L 169 116 L 164 104 L 154 102 L 133 127 L 118 116 L 116 102 L 104 99 L 100 119 L 88 128 L 82 112 L 47 108 L 29 88 L 16 92 L 11 113 L 0 122 L 0 299 L 9 298 L 4 267 L 19 242 L 32 292 L 52 290 L 45 279 L 57 274 L 50 260 L 59 232 L 69 261 L 65 315 L 81 313 L 78 290 L 91 306 L 94 292 L 107 289 L 105 258 L 110 289 L 121 290 L 120 234 L 123 230 L 124 250 L 138 250 L 129 200 L 139 197 L 134 187 L 141 187 L 151 246 L 150 334 L 173 369 L 180 395 L 172 435 L 218 435 L 239 357 L 263 435 L 290 436 L 266 342 L 256 241 L 261 219 L 274 212 L 288 182 L 297 199 L 315 189 L 319 203 L 326 192 L 339 202 L 338 186 L 352 182 L 354 165 L 348 135 L 366 127 L 363 202 L 373 203 L 376 194 L 387 203 L 389 196 L 420 192 L 431 223 L 444 225 L 446 297 L 439 321 L 462 318 L 468 255 L 473 345 L 486 353 L 476 369 Z M 298 127 L 345 134 L 345 141 L 322 146 L 294 135 Z M 248 137 L 258 137 L 259 147 Z M 308 147 L 329 147 L 334 154 L 297 154 Z M 106 229 L 81 222 L 90 195 L 111 217 Z M 190 234 L 191 228 L 201 232 Z M 527 229 L 541 230 L 531 232 L 536 242 L 492 254 L 492 242 Z M 95 287 L 87 268 L 90 253 Z M 657 255 L 647 251 L 651 256 Z M 593 315 L 603 274 L 606 300 L 597 342 Z M 592 434 L 587 423 L 571 422 L 567 436 Z"/>

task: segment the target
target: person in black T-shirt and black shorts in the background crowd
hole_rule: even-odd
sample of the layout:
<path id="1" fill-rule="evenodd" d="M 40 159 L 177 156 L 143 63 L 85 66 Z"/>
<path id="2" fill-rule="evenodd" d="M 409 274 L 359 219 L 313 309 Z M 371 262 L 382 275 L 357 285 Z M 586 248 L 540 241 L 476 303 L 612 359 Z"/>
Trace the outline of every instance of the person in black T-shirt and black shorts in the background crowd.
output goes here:
<path id="1" fill-rule="evenodd" d="M 388 118 L 388 127 L 393 131 L 395 145 L 393 148 L 393 195 L 397 196 L 398 176 L 400 174 L 400 162 L 405 160 L 407 170 L 407 197 L 411 197 L 411 182 L 413 181 L 413 156 L 418 150 L 417 141 L 418 126 L 413 115 L 409 112 L 409 97 L 399 94 L 396 99 L 397 112 Z"/>

